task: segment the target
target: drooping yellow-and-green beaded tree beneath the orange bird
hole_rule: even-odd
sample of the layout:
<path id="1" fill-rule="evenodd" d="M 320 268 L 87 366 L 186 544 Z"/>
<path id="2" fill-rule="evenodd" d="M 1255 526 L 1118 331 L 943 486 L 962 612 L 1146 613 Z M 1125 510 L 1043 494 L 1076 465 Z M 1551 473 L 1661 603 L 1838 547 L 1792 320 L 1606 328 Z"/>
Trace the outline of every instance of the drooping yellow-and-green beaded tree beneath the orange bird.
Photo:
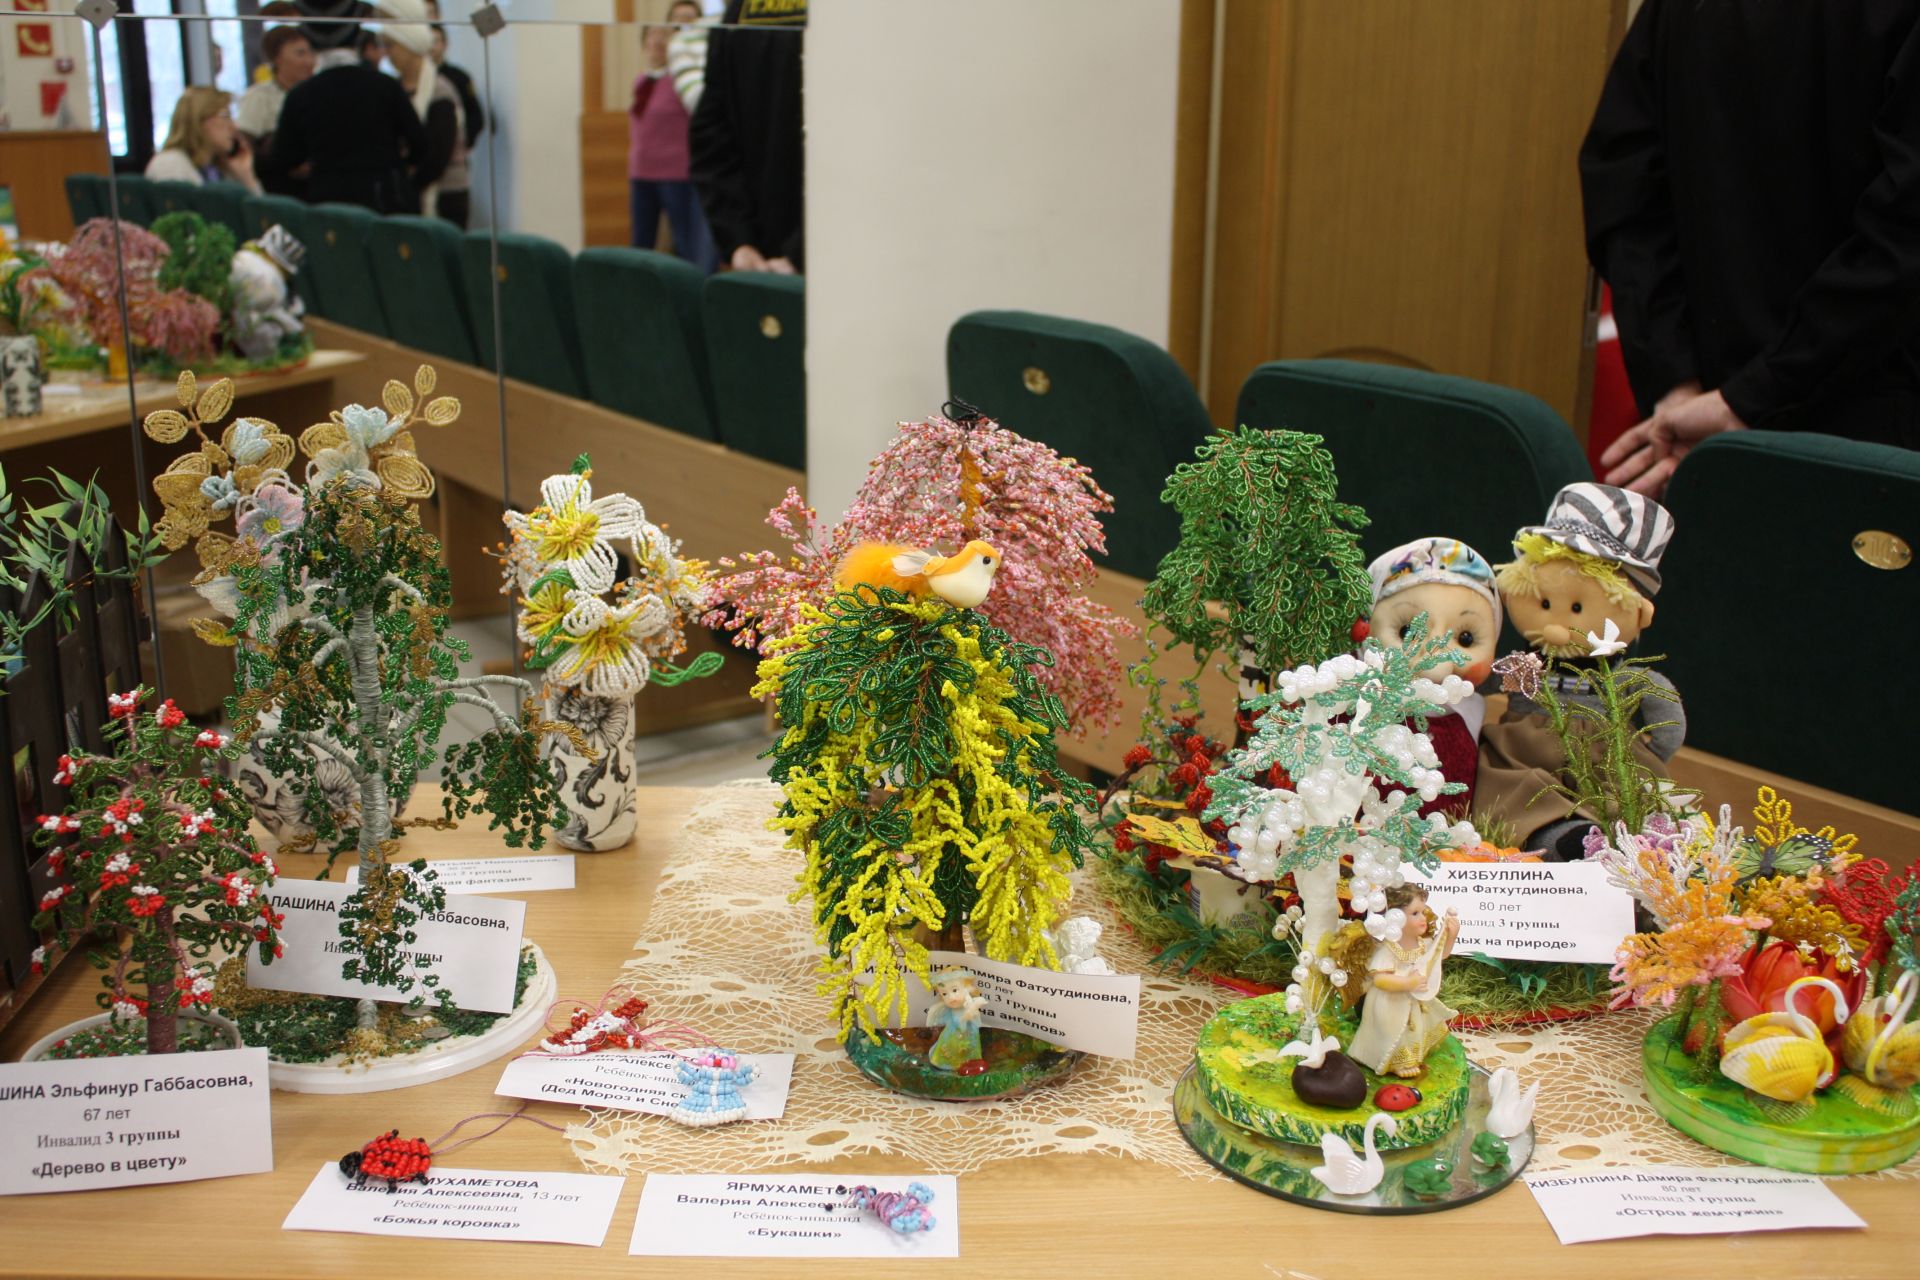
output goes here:
<path id="1" fill-rule="evenodd" d="M 787 725 L 772 825 L 806 856 L 799 894 L 841 1038 L 904 1017 L 929 935 L 960 950 L 972 925 L 981 954 L 1054 967 L 1046 931 L 1091 842 L 1075 806 L 1092 791 L 1054 756 L 1066 716 L 1033 674 L 1046 651 L 885 587 L 804 604 L 768 649 L 755 693 Z"/>

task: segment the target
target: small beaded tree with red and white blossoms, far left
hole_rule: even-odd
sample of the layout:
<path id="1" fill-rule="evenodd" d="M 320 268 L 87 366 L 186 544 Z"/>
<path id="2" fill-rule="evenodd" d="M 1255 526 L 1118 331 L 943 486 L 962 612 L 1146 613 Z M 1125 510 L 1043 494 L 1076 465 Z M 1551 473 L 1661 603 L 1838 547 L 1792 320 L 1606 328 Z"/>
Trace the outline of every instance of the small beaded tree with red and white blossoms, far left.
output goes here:
<path id="1" fill-rule="evenodd" d="M 48 890 L 35 927 L 71 948 L 83 935 L 109 942 L 100 1006 L 119 1019 L 146 1017 L 146 1052 L 179 1050 L 179 1011 L 213 1002 L 219 952 L 259 946 L 280 954 L 280 917 L 267 902 L 275 867 L 248 835 L 248 806 L 215 773 L 230 756 L 227 735 L 194 729 L 167 699 L 142 710 L 146 689 L 108 699 L 111 754 L 61 756 L 56 783 L 71 787 L 58 816 L 42 816 L 36 841 L 65 877 Z M 44 963 L 42 954 L 35 965 Z M 134 988 L 146 996 L 134 996 Z"/>

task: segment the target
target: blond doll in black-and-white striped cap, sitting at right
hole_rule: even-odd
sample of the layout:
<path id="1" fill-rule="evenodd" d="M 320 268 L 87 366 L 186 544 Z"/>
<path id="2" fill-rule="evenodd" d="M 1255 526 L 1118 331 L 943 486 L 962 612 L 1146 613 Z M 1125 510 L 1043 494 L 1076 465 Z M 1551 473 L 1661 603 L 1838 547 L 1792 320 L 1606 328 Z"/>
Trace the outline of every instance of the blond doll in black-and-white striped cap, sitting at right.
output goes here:
<path id="1" fill-rule="evenodd" d="M 1599 699 L 1580 679 L 1590 662 L 1592 637 L 1626 647 L 1653 622 L 1653 597 L 1661 589 L 1661 555 L 1674 522 L 1649 497 L 1605 484 L 1571 484 L 1553 497 L 1546 524 L 1513 537 L 1515 560 L 1496 568 L 1501 601 L 1513 628 L 1544 658 L 1555 660 L 1553 693 L 1563 702 Z M 1632 750 L 1655 777 L 1686 741 L 1686 710 L 1672 681 L 1659 672 L 1649 679 L 1672 695 L 1645 699 Z M 1511 693 L 1507 710 L 1480 737 L 1480 808 L 1515 825 L 1521 848 L 1567 862 L 1584 856 L 1584 837 L 1597 823 L 1557 791 L 1567 750 L 1548 725 L 1540 704 Z"/>

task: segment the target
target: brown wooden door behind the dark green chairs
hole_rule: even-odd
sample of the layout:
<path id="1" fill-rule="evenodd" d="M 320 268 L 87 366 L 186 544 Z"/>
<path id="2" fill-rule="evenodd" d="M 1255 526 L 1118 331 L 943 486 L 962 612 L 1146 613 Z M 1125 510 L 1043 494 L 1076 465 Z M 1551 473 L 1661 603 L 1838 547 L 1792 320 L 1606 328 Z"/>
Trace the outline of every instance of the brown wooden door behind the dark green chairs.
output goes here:
<path id="1" fill-rule="evenodd" d="M 1210 196 L 1175 211 L 1173 349 L 1215 422 L 1261 361 L 1346 357 L 1521 388 L 1584 434 L 1576 154 L 1624 13 L 1190 0 L 1181 182 Z"/>

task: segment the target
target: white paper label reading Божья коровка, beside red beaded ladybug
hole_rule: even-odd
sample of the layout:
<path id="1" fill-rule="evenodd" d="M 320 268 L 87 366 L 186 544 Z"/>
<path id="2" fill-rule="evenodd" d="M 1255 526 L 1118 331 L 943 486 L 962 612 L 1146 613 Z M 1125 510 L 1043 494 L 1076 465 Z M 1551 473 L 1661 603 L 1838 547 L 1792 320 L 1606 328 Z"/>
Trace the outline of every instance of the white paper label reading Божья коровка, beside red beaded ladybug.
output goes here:
<path id="1" fill-rule="evenodd" d="M 432 1236 L 520 1244 L 607 1242 L 626 1178 L 593 1173 L 434 1169 L 426 1182 L 353 1186 L 338 1163 L 321 1165 L 282 1230 L 357 1236 Z"/>

